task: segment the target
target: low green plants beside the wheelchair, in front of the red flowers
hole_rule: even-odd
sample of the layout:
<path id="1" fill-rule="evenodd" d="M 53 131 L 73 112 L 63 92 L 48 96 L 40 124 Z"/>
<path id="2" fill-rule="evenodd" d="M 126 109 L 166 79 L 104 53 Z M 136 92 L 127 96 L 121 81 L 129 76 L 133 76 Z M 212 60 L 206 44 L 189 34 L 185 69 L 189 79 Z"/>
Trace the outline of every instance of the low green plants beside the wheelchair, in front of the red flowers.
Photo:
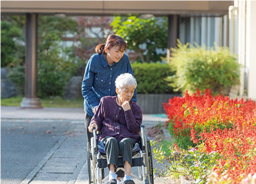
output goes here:
<path id="1" fill-rule="evenodd" d="M 154 144 L 156 142 L 153 142 L 153 146 Z M 183 176 L 186 180 L 198 184 L 206 182 L 220 158 L 218 152 L 202 152 L 201 145 L 196 148 L 190 147 L 188 150 L 178 149 L 175 145 L 165 149 L 164 146 L 154 146 L 153 152 L 157 163 L 163 166 L 156 174 L 165 177 L 172 175 L 175 178 Z"/>

